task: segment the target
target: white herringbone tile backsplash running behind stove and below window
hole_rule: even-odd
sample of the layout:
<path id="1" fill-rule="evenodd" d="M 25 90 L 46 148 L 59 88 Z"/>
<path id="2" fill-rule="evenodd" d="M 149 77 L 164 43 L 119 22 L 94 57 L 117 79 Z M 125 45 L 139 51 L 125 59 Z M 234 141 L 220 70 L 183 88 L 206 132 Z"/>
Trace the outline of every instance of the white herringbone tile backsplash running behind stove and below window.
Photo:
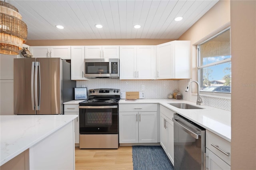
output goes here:
<path id="1" fill-rule="evenodd" d="M 90 79 L 89 81 L 76 81 L 76 87 L 87 87 L 87 89 L 111 88 L 125 91 L 144 91 L 146 99 L 167 98 L 169 93 L 178 89 L 183 95 L 183 99 L 196 102 L 196 95 L 191 91 L 185 92 L 185 88 L 190 80 L 119 80 L 119 79 Z M 145 86 L 141 90 L 141 85 Z M 231 111 L 231 99 L 201 96 L 203 104 L 218 109 Z"/>

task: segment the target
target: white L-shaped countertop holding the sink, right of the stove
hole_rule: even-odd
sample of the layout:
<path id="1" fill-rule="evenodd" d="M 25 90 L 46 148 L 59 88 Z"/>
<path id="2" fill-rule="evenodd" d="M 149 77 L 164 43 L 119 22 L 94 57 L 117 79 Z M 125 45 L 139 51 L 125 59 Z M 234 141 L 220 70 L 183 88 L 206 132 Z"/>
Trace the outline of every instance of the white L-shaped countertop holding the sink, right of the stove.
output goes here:
<path id="1" fill-rule="evenodd" d="M 125 101 L 121 99 L 119 104 L 139 104 L 139 103 L 160 103 L 172 111 L 190 119 L 194 123 L 210 130 L 218 136 L 231 142 L 231 112 L 214 107 L 201 105 L 204 109 L 178 109 L 168 103 L 188 103 L 196 105 L 196 102 L 190 102 L 177 99 L 138 99 L 137 101 Z"/>

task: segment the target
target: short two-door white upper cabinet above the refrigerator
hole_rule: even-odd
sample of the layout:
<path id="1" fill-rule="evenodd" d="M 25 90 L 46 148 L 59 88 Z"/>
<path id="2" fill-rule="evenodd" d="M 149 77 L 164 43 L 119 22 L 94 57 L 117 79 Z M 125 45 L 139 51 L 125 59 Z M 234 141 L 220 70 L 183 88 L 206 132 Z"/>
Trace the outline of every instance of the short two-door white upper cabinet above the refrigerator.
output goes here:
<path id="1" fill-rule="evenodd" d="M 33 57 L 47 58 L 59 57 L 61 59 L 71 59 L 70 46 L 30 46 Z"/>

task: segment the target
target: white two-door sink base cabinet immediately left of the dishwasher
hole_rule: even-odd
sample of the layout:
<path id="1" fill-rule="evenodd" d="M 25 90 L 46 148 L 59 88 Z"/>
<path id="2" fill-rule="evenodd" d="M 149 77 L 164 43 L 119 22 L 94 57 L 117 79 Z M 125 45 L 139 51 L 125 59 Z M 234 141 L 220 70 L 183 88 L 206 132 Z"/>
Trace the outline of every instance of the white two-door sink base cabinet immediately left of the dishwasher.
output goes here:
<path id="1" fill-rule="evenodd" d="M 160 144 L 172 164 L 174 164 L 174 127 L 172 121 L 174 113 L 160 105 Z"/>

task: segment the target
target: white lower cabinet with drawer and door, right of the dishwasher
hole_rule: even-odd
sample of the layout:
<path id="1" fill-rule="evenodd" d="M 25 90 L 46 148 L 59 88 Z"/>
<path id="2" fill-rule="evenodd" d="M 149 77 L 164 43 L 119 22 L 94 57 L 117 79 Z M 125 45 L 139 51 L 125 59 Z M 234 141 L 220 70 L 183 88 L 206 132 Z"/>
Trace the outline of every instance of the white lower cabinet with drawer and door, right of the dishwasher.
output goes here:
<path id="1" fill-rule="evenodd" d="M 230 170 L 230 142 L 206 130 L 206 168 L 209 170 Z"/>

